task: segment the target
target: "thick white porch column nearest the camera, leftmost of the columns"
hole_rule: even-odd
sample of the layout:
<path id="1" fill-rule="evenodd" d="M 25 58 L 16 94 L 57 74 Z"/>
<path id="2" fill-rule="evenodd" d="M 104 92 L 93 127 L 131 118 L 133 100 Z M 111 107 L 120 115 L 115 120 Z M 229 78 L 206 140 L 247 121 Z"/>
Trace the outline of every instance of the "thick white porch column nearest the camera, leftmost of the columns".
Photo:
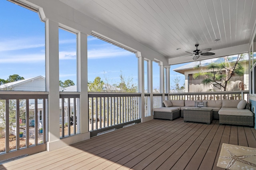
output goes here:
<path id="1" fill-rule="evenodd" d="M 59 92 L 59 25 L 47 20 L 46 27 L 46 91 L 48 95 L 48 142 L 47 150 L 56 148 L 60 139 L 60 92 Z"/>

